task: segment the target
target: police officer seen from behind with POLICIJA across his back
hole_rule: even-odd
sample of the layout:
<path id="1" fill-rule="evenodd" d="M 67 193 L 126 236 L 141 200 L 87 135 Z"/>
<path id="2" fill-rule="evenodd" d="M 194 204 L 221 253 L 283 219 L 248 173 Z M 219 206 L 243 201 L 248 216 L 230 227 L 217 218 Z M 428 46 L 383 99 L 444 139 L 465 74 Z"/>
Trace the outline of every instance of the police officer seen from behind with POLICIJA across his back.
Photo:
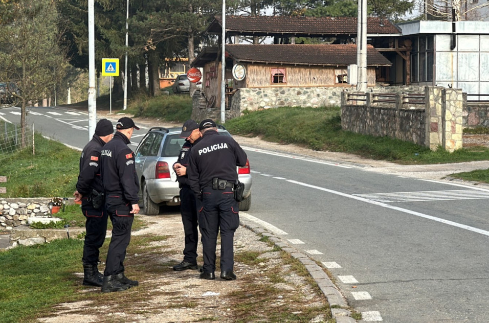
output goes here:
<path id="1" fill-rule="evenodd" d="M 220 136 L 211 119 L 201 121 L 199 130 L 202 139 L 190 152 L 187 175 L 202 201 L 199 228 L 204 265 L 200 278 L 215 279 L 217 235 L 221 231 L 221 278 L 234 280 L 233 239 L 240 218 L 233 186 L 238 180 L 236 166 L 246 164 L 246 153 L 233 138 Z"/>

